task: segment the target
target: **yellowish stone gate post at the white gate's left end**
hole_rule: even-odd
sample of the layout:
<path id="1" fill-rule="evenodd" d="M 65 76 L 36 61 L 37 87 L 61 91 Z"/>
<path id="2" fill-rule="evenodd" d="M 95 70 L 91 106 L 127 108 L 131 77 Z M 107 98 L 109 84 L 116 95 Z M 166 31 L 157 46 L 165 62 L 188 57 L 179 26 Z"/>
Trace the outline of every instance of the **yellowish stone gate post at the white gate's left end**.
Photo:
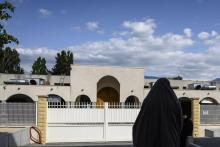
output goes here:
<path id="1" fill-rule="evenodd" d="M 47 99 L 46 96 L 38 96 L 37 126 L 41 132 L 41 142 L 46 143 L 47 126 Z"/>

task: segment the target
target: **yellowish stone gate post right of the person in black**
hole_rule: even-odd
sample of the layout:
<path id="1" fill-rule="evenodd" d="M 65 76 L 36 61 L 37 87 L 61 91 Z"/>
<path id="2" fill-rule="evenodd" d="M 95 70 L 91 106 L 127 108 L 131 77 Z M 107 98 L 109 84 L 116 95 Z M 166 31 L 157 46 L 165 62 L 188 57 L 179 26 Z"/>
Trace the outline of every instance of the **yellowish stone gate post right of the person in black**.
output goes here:
<path id="1" fill-rule="evenodd" d="M 193 137 L 199 136 L 199 124 L 200 124 L 200 106 L 199 98 L 192 99 L 192 122 L 193 122 Z"/>

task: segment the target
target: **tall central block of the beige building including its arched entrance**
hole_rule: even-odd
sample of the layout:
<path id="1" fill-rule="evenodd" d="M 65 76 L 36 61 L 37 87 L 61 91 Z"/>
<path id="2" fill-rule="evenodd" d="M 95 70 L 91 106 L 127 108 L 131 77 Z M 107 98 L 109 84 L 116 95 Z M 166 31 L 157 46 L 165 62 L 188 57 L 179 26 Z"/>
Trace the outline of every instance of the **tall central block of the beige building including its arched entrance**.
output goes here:
<path id="1" fill-rule="evenodd" d="M 72 66 L 71 97 L 87 95 L 92 102 L 124 102 L 144 97 L 144 69 L 104 66 Z"/>

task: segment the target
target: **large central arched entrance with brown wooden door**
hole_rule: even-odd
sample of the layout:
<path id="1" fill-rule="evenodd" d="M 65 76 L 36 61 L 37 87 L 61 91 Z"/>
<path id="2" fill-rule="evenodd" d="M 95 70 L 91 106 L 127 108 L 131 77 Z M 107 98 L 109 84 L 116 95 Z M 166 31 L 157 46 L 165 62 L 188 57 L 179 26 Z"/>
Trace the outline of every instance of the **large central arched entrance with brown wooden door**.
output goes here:
<path id="1" fill-rule="evenodd" d="M 120 102 L 120 83 L 113 76 L 104 76 L 97 82 L 97 100 L 98 104 L 104 102 Z"/>

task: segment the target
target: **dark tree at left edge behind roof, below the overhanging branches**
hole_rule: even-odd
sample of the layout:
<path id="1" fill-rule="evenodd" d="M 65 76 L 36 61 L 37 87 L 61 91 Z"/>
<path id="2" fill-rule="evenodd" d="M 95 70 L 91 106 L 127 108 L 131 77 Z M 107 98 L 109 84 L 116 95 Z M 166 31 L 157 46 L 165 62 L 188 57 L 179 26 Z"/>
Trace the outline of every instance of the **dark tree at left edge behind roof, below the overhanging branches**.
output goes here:
<path id="1" fill-rule="evenodd" d="M 0 49 L 0 73 L 24 73 L 24 70 L 20 67 L 19 54 L 15 49 L 9 47 L 4 50 Z"/>

